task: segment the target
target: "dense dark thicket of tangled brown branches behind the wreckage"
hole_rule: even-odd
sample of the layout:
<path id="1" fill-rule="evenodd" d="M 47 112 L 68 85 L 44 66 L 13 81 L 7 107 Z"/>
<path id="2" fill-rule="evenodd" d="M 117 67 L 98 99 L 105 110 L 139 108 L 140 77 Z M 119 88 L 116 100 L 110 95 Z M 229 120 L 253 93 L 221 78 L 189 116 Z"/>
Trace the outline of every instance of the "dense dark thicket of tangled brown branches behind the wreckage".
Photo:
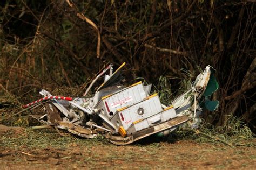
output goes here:
<path id="1" fill-rule="evenodd" d="M 220 88 L 212 97 L 220 105 L 204 119 L 223 126 L 236 116 L 255 132 L 255 2 L 72 2 L 0 2 L 0 123 L 28 124 L 17 112 L 39 90 L 82 95 L 107 64 L 126 62 L 126 83 L 153 83 L 165 103 L 213 66 Z M 77 12 L 97 25 L 99 56 L 97 31 Z"/>

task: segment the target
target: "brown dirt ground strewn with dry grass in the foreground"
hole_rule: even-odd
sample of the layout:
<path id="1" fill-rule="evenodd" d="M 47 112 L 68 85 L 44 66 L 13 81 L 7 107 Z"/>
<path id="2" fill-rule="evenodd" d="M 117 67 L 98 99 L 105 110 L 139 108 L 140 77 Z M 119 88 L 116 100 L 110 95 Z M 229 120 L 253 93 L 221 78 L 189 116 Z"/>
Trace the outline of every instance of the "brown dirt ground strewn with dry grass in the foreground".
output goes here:
<path id="1" fill-rule="evenodd" d="M 60 136 L 55 130 L 3 129 L 0 169 L 255 169 L 256 165 L 252 146 L 150 138 L 116 146 L 105 139 L 81 139 L 64 132 Z"/>

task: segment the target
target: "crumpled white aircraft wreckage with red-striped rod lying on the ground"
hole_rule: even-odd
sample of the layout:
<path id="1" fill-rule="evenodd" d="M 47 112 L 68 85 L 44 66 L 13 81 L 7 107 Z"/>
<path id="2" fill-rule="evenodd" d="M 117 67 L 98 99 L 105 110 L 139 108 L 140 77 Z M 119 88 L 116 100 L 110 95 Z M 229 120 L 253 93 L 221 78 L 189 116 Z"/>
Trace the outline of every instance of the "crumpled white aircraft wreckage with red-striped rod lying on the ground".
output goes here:
<path id="1" fill-rule="evenodd" d="M 43 116 L 31 115 L 43 124 L 87 139 L 101 135 L 116 145 L 131 144 L 152 134 L 166 136 L 186 122 L 193 128 L 204 108 L 214 111 L 218 107 L 218 101 L 210 101 L 218 89 L 210 66 L 169 106 L 161 104 L 158 94 L 150 95 L 151 84 L 144 86 L 137 82 L 129 87 L 120 84 L 124 66 L 125 63 L 113 72 L 110 64 L 96 76 L 82 97 L 52 96 L 42 90 L 43 98 L 23 107 L 32 110 L 43 105 Z M 93 84 L 104 75 L 104 82 L 88 97 Z"/>

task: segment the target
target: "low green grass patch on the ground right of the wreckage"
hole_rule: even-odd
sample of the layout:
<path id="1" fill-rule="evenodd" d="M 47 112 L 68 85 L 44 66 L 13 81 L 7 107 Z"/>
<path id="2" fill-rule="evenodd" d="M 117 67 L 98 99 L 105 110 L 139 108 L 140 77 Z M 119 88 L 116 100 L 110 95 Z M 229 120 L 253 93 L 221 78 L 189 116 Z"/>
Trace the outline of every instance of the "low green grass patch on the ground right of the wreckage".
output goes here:
<path id="1" fill-rule="evenodd" d="M 197 130 L 180 128 L 173 132 L 173 137 L 180 139 L 193 139 L 199 143 L 222 143 L 228 146 L 254 146 L 254 134 L 248 126 L 238 117 L 230 116 L 227 126 L 217 128 L 203 120 Z M 171 139 L 174 140 L 174 139 Z"/>

